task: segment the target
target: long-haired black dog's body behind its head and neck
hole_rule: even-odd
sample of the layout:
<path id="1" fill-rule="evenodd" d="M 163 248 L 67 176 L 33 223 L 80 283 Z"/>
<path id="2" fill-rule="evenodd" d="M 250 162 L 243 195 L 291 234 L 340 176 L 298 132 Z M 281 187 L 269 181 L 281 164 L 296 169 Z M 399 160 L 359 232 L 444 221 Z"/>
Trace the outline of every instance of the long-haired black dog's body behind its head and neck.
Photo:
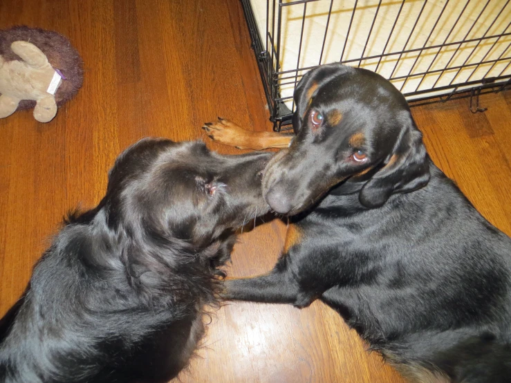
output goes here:
<path id="1" fill-rule="evenodd" d="M 113 243 L 90 226 L 91 216 L 59 232 L 1 319 L 0 382 L 167 382 L 196 348 L 197 302 L 169 295 L 169 304 L 149 310 L 121 259 L 101 250 Z"/>

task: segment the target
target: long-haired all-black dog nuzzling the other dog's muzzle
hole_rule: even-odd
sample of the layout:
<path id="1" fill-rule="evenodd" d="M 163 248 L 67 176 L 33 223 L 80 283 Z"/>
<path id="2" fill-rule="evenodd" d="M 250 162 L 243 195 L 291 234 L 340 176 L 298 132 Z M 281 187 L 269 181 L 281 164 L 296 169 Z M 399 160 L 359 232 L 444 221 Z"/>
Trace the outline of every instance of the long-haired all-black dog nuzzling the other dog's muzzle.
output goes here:
<path id="1" fill-rule="evenodd" d="M 146 139 L 106 196 L 71 214 L 0 321 L 0 382 L 167 382 L 203 335 L 243 218 L 264 211 L 268 153 Z"/>

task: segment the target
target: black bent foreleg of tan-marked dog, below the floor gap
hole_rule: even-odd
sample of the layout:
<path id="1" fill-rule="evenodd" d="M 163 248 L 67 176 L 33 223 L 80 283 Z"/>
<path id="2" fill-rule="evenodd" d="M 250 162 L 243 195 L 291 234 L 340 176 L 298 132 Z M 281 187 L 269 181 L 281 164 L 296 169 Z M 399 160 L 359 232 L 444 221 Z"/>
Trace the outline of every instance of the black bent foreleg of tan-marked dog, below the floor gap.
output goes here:
<path id="1" fill-rule="evenodd" d="M 291 272 L 278 268 L 258 277 L 227 279 L 224 286 L 225 300 L 288 303 L 299 308 L 310 305 L 318 296 L 301 289 Z"/>

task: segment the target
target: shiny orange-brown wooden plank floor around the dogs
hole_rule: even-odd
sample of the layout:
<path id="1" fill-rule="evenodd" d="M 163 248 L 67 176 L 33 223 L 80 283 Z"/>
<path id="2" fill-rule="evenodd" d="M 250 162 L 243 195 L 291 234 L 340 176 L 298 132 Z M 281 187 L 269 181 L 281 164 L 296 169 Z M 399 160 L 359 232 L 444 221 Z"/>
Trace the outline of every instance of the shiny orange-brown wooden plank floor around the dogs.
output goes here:
<path id="1" fill-rule="evenodd" d="M 67 35 L 85 62 L 84 86 L 55 120 L 30 112 L 0 120 L 0 315 L 64 213 L 102 197 L 115 156 L 144 136 L 205 138 L 221 115 L 269 130 L 259 73 L 239 0 L 1 0 L 0 28 Z M 494 225 L 511 234 L 511 95 L 414 109 L 431 157 Z M 223 153 L 232 149 L 208 143 Z M 232 276 L 272 267 L 285 225 L 243 234 Z M 402 382 L 322 303 L 231 303 L 212 319 L 205 348 L 182 382 Z"/>

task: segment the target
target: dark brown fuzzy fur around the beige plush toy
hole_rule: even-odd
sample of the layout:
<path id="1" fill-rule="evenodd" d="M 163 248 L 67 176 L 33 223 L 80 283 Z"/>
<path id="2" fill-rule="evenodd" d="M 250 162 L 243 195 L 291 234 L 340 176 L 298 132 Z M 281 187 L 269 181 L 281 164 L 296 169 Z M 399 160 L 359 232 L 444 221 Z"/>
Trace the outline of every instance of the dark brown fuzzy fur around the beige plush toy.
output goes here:
<path id="1" fill-rule="evenodd" d="M 80 54 L 66 37 L 51 30 L 27 26 L 0 30 L 0 55 L 5 62 L 21 61 L 21 58 L 12 52 L 11 44 L 14 41 L 28 41 L 37 46 L 46 55 L 51 66 L 66 77 L 67 80 L 62 80 L 55 93 L 57 106 L 61 106 L 76 95 L 83 84 L 83 62 Z M 16 110 L 32 109 L 35 105 L 34 100 L 21 100 Z"/>

